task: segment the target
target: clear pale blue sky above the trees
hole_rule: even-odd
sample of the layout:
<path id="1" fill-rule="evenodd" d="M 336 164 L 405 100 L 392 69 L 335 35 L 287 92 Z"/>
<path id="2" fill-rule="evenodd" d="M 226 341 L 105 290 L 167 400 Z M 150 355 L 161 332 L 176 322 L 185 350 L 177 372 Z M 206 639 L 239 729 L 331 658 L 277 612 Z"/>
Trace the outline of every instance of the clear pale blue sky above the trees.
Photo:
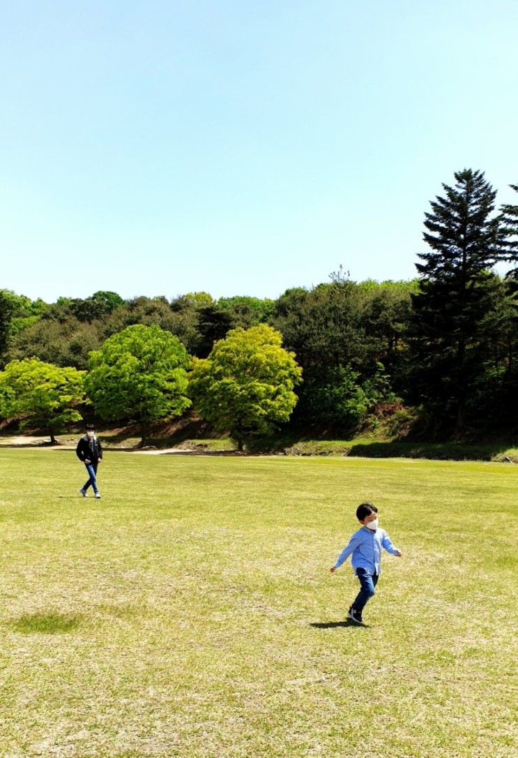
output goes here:
<path id="1" fill-rule="evenodd" d="M 518 183 L 516 0 L 0 0 L 0 288 L 276 297 L 415 275 Z"/>

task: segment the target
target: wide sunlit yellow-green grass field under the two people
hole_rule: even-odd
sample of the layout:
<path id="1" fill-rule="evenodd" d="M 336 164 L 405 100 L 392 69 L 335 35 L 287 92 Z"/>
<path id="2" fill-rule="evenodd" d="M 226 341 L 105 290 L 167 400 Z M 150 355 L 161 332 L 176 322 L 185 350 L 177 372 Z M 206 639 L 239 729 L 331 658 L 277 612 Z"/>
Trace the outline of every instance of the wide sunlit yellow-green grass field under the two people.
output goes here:
<path id="1" fill-rule="evenodd" d="M 0 755 L 516 755 L 510 464 L 2 449 Z M 329 566 L 364 499 L 367 626 Z"/>

